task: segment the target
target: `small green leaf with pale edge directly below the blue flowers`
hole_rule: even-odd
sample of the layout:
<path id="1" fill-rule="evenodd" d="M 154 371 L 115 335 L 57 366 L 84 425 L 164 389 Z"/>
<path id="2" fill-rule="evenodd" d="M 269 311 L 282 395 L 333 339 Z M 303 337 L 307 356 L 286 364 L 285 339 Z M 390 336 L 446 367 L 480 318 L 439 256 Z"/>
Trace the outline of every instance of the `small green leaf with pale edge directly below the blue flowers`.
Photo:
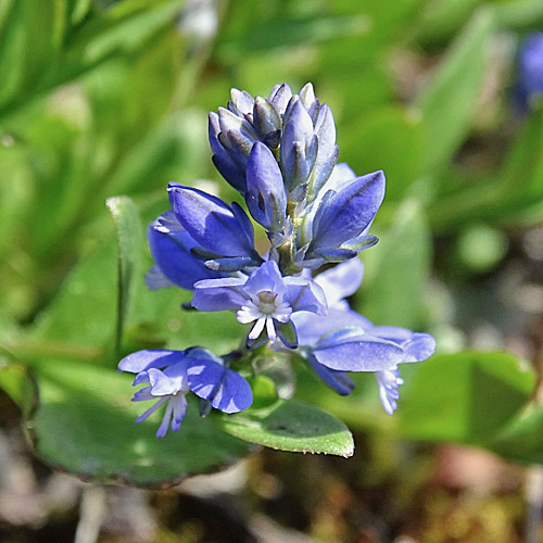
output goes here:
<path id="1" fill-rule="evenodd" d="M 222 416 L 219 425 L 237 438 L 280 451 L 345 457 L 354 453 L 353 437 L 343 422 L 293 400 Z"/>

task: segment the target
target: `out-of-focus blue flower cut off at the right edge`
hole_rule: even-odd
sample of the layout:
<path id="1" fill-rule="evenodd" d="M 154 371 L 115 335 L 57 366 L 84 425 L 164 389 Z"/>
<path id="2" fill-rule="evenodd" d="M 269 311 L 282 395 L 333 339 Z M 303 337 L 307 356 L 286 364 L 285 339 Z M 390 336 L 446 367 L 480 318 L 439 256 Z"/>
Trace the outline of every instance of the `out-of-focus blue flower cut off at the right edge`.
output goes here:
<path id="1" fill-rule="evenodd" d="M 520 105 L 527 108 L 532 97 L 543 94 L 543 33 L 534 31 L 526 38 L 519 52 L 518 71 L 518 99 Z"/>

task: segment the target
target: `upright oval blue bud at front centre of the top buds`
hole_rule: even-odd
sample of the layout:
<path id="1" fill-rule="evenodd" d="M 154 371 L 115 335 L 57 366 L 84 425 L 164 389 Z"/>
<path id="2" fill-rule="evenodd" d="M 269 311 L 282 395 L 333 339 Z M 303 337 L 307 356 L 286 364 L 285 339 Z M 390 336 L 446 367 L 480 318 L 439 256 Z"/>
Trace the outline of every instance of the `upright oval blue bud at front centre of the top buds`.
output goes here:
<path id="1" fill-rule="evenodd" d="M 285 226 L 287 190 L 272 151 L 260 141 L 247 163 L 245 202 L 253 218 L 264 228 L 280 231 Z"/>

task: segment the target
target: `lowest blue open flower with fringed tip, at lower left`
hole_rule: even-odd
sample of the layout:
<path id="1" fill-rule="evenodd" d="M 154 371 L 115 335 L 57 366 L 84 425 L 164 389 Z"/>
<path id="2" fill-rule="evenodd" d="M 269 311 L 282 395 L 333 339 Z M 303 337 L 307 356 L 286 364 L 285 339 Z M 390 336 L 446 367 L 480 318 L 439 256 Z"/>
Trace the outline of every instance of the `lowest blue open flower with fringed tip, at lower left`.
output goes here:
<path id="1" fill-rule="evenodd" d="M 136 392 L 132 402 L 155 402 L 136 422 L 166 406 L 157 438 L 164 438 L 169 426 L 175 432 L 179 430 L 187 409 L 185 396 L 189 391 L 224 413 L 238 413 L 253 403 L 247 380 L 204 349 L 137 351 L 125 356 L 118 363 L 118 369 L 137 374 L 134 386 L 147 384 Z"/>

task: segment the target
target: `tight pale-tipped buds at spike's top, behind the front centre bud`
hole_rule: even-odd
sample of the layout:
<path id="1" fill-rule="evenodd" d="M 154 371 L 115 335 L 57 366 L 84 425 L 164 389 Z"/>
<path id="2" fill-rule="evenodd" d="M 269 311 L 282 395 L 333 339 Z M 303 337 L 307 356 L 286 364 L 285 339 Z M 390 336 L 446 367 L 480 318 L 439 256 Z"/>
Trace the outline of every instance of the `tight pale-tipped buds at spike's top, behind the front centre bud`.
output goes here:
<path id="1" fill-rule="evenodd" d="M 311 83 L 299 94 L 287 84 L 276 85 L 268 98 L 232 89 L 228 108 L 210 113 L 213 162 L 243 195 L 255 191 L 248 169 L 257 142 L 262 160 L 277 160 L 287 198 L 298 203 L 318 193 L 339 155 L 332 113 Z"/>

